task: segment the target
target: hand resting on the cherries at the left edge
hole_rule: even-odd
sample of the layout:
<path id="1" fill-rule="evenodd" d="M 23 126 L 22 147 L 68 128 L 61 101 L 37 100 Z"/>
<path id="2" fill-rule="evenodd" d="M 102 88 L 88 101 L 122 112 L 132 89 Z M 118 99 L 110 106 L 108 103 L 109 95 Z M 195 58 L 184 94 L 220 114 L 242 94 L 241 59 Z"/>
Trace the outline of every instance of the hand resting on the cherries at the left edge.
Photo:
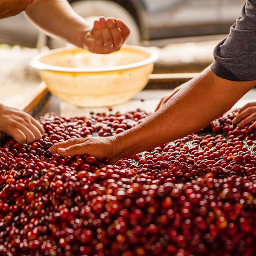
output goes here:
<path id="1" fill-rule="evenodd" d="M 0 132 L 23 144 L 40 139 L 44 129 L 29 114 L 0 104 Z"/>

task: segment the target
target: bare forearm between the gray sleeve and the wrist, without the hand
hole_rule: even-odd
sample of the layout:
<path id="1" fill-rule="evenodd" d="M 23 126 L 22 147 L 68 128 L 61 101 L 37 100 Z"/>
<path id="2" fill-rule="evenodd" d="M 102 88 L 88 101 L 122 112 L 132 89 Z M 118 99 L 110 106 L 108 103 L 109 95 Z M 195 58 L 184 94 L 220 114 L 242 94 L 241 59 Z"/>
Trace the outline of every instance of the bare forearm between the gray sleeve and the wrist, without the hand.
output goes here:
<path id="1" fill-rule="evenodd" d="M 116 135 L 121 157 L 128 157 L 194 133 L 232 108 L 255 81 L 231 82 L 208 68 L 188 82 L 145 122 Z"/>

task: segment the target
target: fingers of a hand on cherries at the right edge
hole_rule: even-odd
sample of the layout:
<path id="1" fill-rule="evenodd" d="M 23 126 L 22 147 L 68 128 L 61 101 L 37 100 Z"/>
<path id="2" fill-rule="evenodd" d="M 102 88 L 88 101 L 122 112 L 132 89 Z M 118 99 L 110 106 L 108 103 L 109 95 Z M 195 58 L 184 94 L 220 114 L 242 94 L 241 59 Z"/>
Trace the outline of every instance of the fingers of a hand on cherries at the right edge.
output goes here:
<path id="1" fill-rule="evenodd" d="M 252 122 L 252 126 L 256 128 L 256 102 L 246 104 L 238 111 L 237 116 L 233 119 L 233 123 L 237 123 L 238 127 L 242 127 Z"/>

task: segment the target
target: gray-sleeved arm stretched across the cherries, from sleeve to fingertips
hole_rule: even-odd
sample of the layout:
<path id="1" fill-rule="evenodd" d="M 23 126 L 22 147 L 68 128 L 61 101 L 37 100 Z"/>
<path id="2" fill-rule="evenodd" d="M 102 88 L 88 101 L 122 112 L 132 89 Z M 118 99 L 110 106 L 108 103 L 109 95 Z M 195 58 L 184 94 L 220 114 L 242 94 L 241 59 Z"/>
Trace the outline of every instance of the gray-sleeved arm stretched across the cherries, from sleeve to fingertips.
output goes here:
<path id="1" fill-rule="evenodd" d="M 256 0 L 247 0 L 229 36 L 215 48 L 211 69 L 189 81 L 145 122 L 112 137 L 66 141 L 52 147 L 52 152 L 62 156 L 88 153 L 116 160 L 206 126 L 256 84 L 255 21 Z"/>

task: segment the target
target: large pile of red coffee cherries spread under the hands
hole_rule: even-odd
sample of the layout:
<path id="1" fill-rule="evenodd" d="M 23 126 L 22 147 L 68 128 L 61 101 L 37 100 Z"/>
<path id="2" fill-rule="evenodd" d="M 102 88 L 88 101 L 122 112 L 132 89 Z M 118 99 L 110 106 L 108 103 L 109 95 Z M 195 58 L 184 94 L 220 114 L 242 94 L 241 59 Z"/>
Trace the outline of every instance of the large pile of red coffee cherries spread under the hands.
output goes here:
<path id="1" fill-rule="evenodd" d="M 202 131 L 110 165 L 50 146 L 143 122 L 125 114 L 41 119 L 30 145 L 0 147 L 1 256 L 254 256 L 256 131 L 236 111 Z"/>

